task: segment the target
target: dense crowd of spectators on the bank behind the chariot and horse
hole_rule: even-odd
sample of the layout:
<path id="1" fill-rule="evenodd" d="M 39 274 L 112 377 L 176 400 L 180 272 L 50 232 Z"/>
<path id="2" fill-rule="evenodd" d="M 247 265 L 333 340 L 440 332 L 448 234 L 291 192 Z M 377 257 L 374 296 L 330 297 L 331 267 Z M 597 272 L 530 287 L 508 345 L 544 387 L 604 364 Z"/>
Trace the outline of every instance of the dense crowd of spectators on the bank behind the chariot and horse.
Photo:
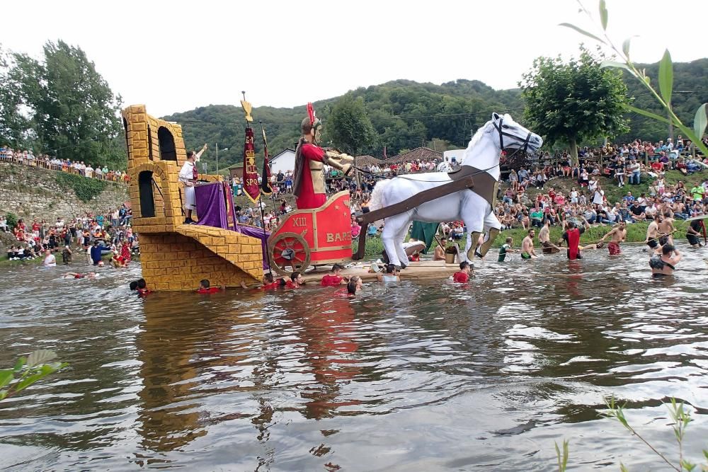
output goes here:
<path id="1" fill-rule="evenodd" d="M 704 141 L 708 142 L 708 139 Z M 702 171 L 708 159 L 694 158 L 690 154 L 690 143 L 680 135 L 674 141 L 642 142 L 639 139 L 631 143 L 607 144 L 596 148 L 584 147 L 578 151 L 578 162 L 573 163 L 568 151 L 539 153 L 520 164 L 505 166 L 506 154 L 501 156 L 503 180 L 508 188 L 498 194 L 499 203 L 494 209 L 503 228 L 523 226 L 542 226 L 544 221 L 552 225 L 565 225 L 566 221 L 576 220 L 588 224 L 614 224 L 618 221 L 632 223 L 652 219 L 654 215 L 668 210 L 676 218 L 688 218 L 705 209 L 708 201 L 708 182 L 700 188 L 685 188 L 683 182 L 676 185 L 666 183 L 664 173 L 675 169 L 689 175 Z M 325 168 L 327 192 L 349 190 L 351 212 L 353 215 L 368 212 L 370 195 L 377 180 L 405 173 L 432 171 L 453 171 L 459 166 L 455 161 L 429 159 L 426 161 L 404 161 L 402 163 L 372 163 L 360 166 L 360 185 L 352 175 L 345 178 L 341 171 Z M 556 190 L 549 183 L 552 179 L 572 179 L 575 184 L 569 191 Z M 610 186 L 619 188 L 627 185 L 636 188 L 642 181 L 650 178 L 648 191 L 629 190 L 619 202 L 608 202 L 605 189 Z M 260 176 L 259 176 L 260 183 Z M 234 195 L 240 195 L 240 180 L 232 181 Z M 282 220 L 282 215 L 291 211 L 285 199 L 278 199 L 292 193 L 292 171 L 278 172 L 271 176 L 274 190 L 275 207 L 265 208 L 261 219 L 258 207 L 239 208 L 239 221 L 242 224 L 275 229 Z M 537 195 L 528 196 L 530 188 L 537 189 Z M 446 236 L 462 238 L 464 225 L 461 221 L 443 222 L 442 229 Z M 380 228 L 370 226 L 370 235 L 377 234 Z M 352 220 L 352 236 L 360 234 L 360 227 Z"/>

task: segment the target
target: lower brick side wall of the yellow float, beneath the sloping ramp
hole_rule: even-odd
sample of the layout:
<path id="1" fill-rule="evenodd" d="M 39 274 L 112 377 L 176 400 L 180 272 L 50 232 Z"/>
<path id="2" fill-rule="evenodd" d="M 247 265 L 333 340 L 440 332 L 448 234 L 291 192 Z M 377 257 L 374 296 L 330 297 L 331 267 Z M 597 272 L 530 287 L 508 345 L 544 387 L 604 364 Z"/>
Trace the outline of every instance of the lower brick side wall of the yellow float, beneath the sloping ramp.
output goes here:
<path id="1" fill-rule="evenodd" d="M 198 241 L 181 234 L 143 235 L 140 253 L 142 276 L 151 290 L 196 290 L 202 279 L 209 280 L 214 287 L 238 287 L 242 281 L 250 284 L 254 279 Z"/>

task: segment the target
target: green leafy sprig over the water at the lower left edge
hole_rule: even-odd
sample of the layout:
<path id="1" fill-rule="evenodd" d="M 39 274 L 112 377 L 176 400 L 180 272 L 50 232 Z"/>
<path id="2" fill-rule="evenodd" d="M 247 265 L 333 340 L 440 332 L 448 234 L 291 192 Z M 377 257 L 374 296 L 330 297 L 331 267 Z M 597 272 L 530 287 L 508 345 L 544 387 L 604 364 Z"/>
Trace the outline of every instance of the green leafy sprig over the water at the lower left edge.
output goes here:
<path id="1" fill-rule="evenodd" d="M 0 370 L 0 401 L 69 365 L 67 362 L 48 363 L 56 357 L 54 351 L 42 349 L 20 357 L 12 369 Z"/>

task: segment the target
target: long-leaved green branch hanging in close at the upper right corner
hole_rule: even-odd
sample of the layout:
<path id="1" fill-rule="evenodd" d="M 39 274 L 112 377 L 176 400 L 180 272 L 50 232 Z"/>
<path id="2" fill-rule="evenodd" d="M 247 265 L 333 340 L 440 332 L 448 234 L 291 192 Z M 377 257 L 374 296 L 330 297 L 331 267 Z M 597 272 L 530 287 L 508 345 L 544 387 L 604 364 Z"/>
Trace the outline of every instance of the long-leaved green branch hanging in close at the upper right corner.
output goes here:
<path id="1" fill-rule="evenodd" d="M 595 21 L 595 18 L 593 18 L 593 15 L 590 13 L 590 11 L 588 11 L 588 9 L 583 5 L 582 1 L 577 1 L 580 5 L 581 12 L 585 13 L 588 18 L 590 18 L 590 20 Z M 613 67 L 617 69 L 623 69 L 635 79 L 639 80 L 641 84 L 643 84 L 644 87 L 649 91 L 649 93 L 651 93 L 651 95 L 656 98 L 658 103 L 666 110 L 666 112 L 668 113 L 668 118 L 660 117 L 659 115 L 656 115 L 646 110 L 641 110 L 641 108 L 632 107 L 632 105 L 624 105 L 627 110 L 632 111 L 634 113 L 639 113 L 640 115 L 652 118 L 653 120 L 673 123 L 673 125 L 678 127 L 681 132 L 685 134 L 698 149 L 700 149 L 704 156 L 708 156 L 708 146 L 706 146 L 702 142 L 706 127 L 708 127 L 708 117 L 706 115 L 706 105 L 708 105 L 708 103 L 704 103 L 698 108 L 698 110 L 696 110 L 696 114 L 693 119 L 693 129 L 690 129 L 689 127 L 684 125 L 683 122 L 679 119 L 679 117 L 676 116 L 676 114 L 671 108 L 671 93 L 673 92 L 673 62 L 671 61 L 671 54 L 668 52 L 668 50 L 664 52 L 663 57 L 661 58 L 661 62 L 659 62 L 659 89 L 658 91 L 656 91 L 656 89 L 651 86 L 651 78 L 646 75 L 646 70 L 640 70 L 639 68 L 637 68 L 634 62 L 632 62 L 632 59 L 630 59 L 629 57 L 629 45 L 632 38 L 627 38 L 626 40 L 624 40 L 624 42 L 622 42 L 622 47 L 619 48 L 617 47 L 617 45 L 615 45 L 614 42 L 612 42 L 610 37 L 607 35 L 607 19 L 609 17 L 609 13 L 607 12 L 607 5 L 605 4 L 605 0 L 600 0 L 598 11 L 600 13 L 600 25 L 602 27 L 602 32 L 599 33 L 599 35 L 589 33 L 588 31 L 583 30 L 582 28 L 579 28 L 578 26 L 573 25 L 571 23 L 561 23 L 561 26 L 576 30 L 578 33 L 581 33 L 582 35 L 585 35 L 588 38 L 592 38 L 593 40 L 600 42 L 606 47 L 610 47 L 610 49 L 612 49 L 616 56 L 622 59 L 622 62 L 605 61 L 603 62 L 602 67 Z"/>

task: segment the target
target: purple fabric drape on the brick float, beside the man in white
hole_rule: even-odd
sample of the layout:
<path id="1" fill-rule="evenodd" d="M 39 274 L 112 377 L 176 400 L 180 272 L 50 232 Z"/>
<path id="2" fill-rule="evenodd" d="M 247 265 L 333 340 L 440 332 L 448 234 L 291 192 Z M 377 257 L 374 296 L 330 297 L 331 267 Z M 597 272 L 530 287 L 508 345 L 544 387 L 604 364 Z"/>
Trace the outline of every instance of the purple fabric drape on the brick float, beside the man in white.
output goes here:
<path id="1" fill-rule="evenodd" d="M 197 224 L 213 226 L 215 228 L 229 229 L 237 233 L 245 234 L 261 240 L 261 250 L 263 251 L 263 268 L 270 268 L 268 265 L 268 231 L 252 226 L 239 226 L 236 219 L 236 209 L 234 208 L 234 197 L 229 185 L 225 182 L 212 182 L 204 185 L 197 185 L 194 188 L 197 200 L 197 214 L 199 221 Z M 229 226 L 227 217 L 227 207 L 232 214 L 234 223 Z"/>

